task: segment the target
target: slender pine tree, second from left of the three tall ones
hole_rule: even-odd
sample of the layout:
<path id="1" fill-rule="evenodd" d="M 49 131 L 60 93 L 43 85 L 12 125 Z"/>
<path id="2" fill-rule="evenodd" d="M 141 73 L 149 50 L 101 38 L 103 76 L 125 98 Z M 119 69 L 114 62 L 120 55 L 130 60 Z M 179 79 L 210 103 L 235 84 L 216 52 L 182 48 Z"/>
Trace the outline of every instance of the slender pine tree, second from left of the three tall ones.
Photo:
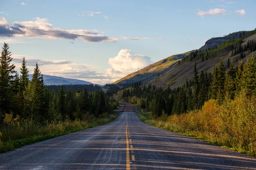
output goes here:
<path id="1" fill-rule="evenodd" d="M 20 93 L 23 94 L 26 87 L 29 84 L 29 69 L 26 66 L 25 57 L 23 57 L 21 68 L 20 68 Z"/>

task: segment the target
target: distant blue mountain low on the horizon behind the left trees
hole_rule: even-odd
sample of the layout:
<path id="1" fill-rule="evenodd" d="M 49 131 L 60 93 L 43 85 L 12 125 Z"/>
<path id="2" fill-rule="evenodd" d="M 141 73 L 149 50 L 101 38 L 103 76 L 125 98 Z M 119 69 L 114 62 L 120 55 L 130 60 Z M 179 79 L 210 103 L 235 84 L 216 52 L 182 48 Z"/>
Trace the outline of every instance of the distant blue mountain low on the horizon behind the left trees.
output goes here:
<path id="1" fill-rule="evenodd" d="M 68 79 L 64 77 L 58 77 L 58 76 L 44 76 L 44 85 L 92 85 L 91 82 L 86 82 L 79 79 Z M 32 74 L 29 74 L 29 79 L 32 79 Z"/>

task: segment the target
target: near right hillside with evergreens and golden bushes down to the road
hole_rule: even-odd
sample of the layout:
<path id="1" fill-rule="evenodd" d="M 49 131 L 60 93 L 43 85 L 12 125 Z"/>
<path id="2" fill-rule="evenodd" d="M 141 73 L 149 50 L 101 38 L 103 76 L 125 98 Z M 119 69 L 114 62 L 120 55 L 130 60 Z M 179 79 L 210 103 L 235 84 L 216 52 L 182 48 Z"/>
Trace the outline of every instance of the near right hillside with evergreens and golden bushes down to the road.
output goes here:
<path id="1" fill-rule="evenodd" d="M 143 85 L 133 83 L 116 98 L 150 111 L 152 125 L 255 155 L 255 33 L 192 51 L 166 74 Z"/>

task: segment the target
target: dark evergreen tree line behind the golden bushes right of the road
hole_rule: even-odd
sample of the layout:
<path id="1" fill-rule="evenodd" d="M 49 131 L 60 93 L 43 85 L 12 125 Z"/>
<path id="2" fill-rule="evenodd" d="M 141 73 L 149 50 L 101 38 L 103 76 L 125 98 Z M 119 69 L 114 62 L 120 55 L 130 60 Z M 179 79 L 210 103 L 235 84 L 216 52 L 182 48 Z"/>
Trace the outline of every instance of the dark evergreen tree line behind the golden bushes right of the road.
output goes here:
<path id="1" fill-rule="evenodd" d="M 193 79 L 186 80 L 181 87 L 134 86 L 119 91 L 117 95 L 157 116 L 201 109 L 209 99 L 217 99 L 218 104 L 222 104 L 242 92 L 247 96 L 256 95 L 256 55 L 244 64 L 240 61 L 237 68 L 234 68 L 232 60 L 228 60 L 227 71 L 222 58 L 218 67 L 214 65 L 212 73 L 201 71 L 199 74 L 196 66 L 195 62 Z"/>

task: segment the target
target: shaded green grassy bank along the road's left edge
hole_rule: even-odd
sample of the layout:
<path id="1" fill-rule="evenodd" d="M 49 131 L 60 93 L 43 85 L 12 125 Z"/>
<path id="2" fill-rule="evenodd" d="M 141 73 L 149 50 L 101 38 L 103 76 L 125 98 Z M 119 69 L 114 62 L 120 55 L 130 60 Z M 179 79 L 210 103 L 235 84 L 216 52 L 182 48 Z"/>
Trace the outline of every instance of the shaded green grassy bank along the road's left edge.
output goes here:
<path id="1" fill-rule="evenodd" d="M 38 125 L 32 121 L 15 122 L 9 118 L 8 125 L 0 130 L 0 153 L 15 150 L 26 144 L 44 141 L 57 136 L 73 133 L 78 130 L 87 129 L 112 122 L 117 113 L 102 114 L 99 118 L 87 115 L 87 121 L 46 122 L 46 125 Z"/>

